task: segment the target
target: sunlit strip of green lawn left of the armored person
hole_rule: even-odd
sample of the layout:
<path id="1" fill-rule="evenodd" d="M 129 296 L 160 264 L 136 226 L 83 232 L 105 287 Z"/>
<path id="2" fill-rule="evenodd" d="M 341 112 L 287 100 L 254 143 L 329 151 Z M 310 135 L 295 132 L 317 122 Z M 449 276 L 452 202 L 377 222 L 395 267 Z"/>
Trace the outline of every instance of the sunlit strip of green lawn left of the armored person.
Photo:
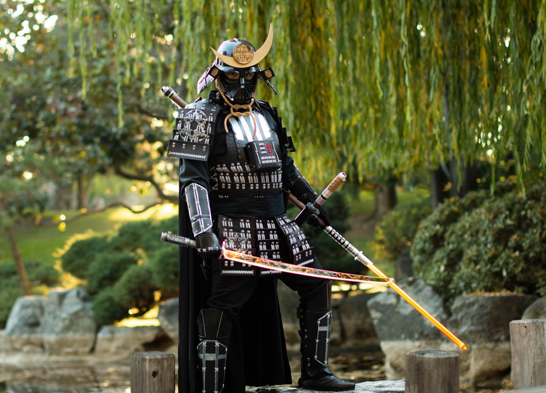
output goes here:
<path id="1" fill-rule="evenodd" d="M 64 214 L 70 217 L 77 214 L 76 210 L 69 211 L 50 211 L 46 218 Z M 165 204 L 146 210 L 141 214 L 133 214 L 124 208 L 114 208 L 102 213 L 91 214 L 78 220 L 70 222 L 66 230 L 61 232 L 57 226 L 40 227 L 34 226 L 23 230 L 15 231 L 15 238 L 23 260 L 25 261 L 44 261 L 54 264 L 56 257 L 54 254 L 58 248 L 73 236 L 82 233 L 109 234 L 114 233 L 117 228 L 128 221 L 145 219 L 164 219 L 178 213 L 178 207 L 172 204 Z M 151 234 L 155 236 L 156 234 Z M 160 234 L 157 234 L 159 241 Z M 0 234 L 0 263 L 12 261 L 11 250 L 5 236 Z"/>

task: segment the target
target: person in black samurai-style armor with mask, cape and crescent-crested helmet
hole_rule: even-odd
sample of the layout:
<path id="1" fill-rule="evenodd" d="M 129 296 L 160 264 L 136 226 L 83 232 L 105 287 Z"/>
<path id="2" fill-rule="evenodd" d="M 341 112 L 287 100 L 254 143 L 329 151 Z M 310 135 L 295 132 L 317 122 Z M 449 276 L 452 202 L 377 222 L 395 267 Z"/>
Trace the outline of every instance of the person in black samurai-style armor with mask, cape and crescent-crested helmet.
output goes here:
<path id="1" fill-rule="evenodd" d="M 294 146 L 277 109 L 256 99 L 259 80 L 273 89 L 272 69 L 258 67 L 272 39 L 270 28 L 258 50 L 238 38 L 211 48 L 216 59 L 198 93 L 212 83 L 216 90 L 180 109 L 169 141 L 168 155 L 180 158 L 180 233 L 197 242 L 197 249 L 180 249 L 179 391 L 241 393 L 245 385 L 292 383 L 277 280 L 300 296 L 299 387 L 354 389 L 328 367 L 329 281 L 219 254 L 225 242 L 242 253 L 321 267 L 304 231 L 286 215 L 289 193 L 304 203 L 317 194 L 288 155 Z M 318 216 L 328 225 L 323 208 Z M 320 226 L 314 217 L 310 223 Z"/>

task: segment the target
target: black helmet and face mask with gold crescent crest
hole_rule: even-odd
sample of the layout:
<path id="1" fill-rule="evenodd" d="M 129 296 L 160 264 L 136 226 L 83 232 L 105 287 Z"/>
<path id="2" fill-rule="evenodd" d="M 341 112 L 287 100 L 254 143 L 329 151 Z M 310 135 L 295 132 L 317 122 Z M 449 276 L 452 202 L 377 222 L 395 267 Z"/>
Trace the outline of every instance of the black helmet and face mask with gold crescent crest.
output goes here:
<path id="1" fill-rule="evenodd" d="M 250 42 L 239 38 L 224 41 L 217 51 L 211 48 L 216 59 L 199 78 L 197 93 L 217 80 L 218 89 L 231 103 L 248 104 L 254 99 L 259 78 L 277 95 L 269 83 L 269 79 L 275 76 L 271 67 L 264 70 L 258 67 L 258 63 L 268 54 L 272 42 L 273 31 L 270 26 L 268 38 L 258 50 Z"/>

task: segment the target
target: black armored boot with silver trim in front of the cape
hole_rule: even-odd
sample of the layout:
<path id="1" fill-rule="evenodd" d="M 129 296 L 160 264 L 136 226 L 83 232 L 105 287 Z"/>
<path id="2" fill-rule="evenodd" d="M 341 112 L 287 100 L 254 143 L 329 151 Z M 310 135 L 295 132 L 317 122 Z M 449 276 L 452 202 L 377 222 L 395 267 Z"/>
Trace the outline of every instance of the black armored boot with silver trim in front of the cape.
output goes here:
<path id="1" fill-rule="evenodd" d="M 225 359 L 231 330 L 231 322 L 220 310 L 201 310 L 197 317 L 197 364 L 201 369 L 198 385 L 203 393 L 220 393 L 224 388 Z"/>

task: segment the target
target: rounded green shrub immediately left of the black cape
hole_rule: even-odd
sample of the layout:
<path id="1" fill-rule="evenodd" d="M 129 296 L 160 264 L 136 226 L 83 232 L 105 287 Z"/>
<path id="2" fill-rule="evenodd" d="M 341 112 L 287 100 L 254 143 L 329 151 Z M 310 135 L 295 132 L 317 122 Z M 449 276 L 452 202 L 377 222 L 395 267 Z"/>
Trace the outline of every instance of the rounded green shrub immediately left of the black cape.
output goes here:
<path id="1" fill-rule="evenodd" d="M 178 249 L 159 241 L 161 232 L 178 232 L 178 218 L 133 221 L 107 240 L 91 237 L 74 242 L 62 255 L 62 267 L 86 279 L 99 324 L 112 324 L 131 314 L 138 316 L 162 298 L 177 295 Z"/>

